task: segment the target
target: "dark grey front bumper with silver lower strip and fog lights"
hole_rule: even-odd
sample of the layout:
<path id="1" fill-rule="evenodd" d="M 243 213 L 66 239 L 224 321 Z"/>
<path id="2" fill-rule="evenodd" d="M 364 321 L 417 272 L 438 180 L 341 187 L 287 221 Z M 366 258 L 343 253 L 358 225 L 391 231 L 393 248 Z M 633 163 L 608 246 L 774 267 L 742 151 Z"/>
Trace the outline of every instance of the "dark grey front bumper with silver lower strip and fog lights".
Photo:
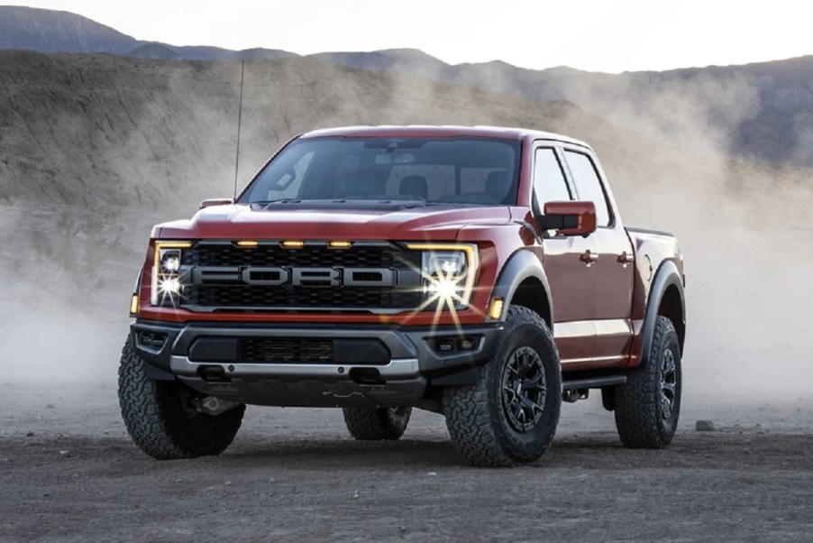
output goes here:
<path id="1" fill-rule="evenodd" d="M 471 382 L 472 370 L 493 359 L 501 332 L 500 323 L 302 327 L 137 320 L 131 327 L 132 345 L 154 380 L 178 379 L 243 403 L 301 407 L 416 405 L 429 385 Z M 257 339 L 329 342 L 332 359 L 244 360 L 240 342 Z"/>

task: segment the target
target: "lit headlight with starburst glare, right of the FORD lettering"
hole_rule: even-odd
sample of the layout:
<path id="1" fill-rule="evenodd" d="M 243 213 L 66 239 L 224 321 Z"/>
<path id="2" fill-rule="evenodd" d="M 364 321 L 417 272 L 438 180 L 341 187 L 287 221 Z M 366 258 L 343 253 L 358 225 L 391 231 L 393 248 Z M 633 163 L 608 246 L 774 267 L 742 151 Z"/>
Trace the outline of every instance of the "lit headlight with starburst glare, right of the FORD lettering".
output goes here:
<path id="1" fill-rule="evenodd" d="M 477 275 L 478 256 L 474 244 L 408 244 L 423 251 L 424 308 L 462 309 L 469 305 Z"/>

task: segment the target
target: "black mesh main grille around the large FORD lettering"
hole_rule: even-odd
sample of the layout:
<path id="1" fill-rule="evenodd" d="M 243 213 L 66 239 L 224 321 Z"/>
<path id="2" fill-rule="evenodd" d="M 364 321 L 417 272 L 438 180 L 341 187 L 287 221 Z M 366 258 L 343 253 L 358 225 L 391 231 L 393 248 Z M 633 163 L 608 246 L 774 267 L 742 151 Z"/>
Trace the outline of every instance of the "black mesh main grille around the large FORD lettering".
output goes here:
<path id="1" fill-rule="evenodd" d="M 195 310 L 297 310 L 370 311 L 415 309 L 421 305 L 421 253 L 395 244 L 354 244 L 350 249 L 328 249 L 324 244 L 306 244 L 301 249 L 283 249 L 279 244 L 260 244 L 245 249 L 231 243 L 198 242 L 184 250 L 181 264 L 186 269 L 203 267 L 379 268 L 395 272 L 397 286 L 252 285 L 242 281 L 206 281 L 187 284 L 182 306 Z M 356 279 L 364 279 L 359 273 Z M 350 282 L 350 281 L 348 281 Z"/>

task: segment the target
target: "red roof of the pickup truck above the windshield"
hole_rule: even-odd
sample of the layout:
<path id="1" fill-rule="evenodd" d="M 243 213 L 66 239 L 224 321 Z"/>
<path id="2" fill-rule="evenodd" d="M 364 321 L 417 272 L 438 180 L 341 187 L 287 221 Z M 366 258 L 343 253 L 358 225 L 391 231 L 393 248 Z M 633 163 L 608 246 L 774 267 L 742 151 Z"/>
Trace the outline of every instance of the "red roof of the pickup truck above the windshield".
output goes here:
<path id="1" fill-rule="evenodd" d="M 559 142 L 574 143 L 583 147 L 589 147 L 587 143 L 580 142 L 571 137 L 541 130 L 530 130 L 527 128 L 507 128 L 503 126 L 433 126 L 433 125 L 409 125 L 409 126 L 342 126 L 337 128 L 324 128 L 302 134 L 303 138 L 324 138 L 324 137 L 440 137 L 451 138 L 457 136 L 464 137 L 489 137 L 503 138 L 507 140 L 523 140 L 530 138 L 534 140 L 555 140 Z"/>

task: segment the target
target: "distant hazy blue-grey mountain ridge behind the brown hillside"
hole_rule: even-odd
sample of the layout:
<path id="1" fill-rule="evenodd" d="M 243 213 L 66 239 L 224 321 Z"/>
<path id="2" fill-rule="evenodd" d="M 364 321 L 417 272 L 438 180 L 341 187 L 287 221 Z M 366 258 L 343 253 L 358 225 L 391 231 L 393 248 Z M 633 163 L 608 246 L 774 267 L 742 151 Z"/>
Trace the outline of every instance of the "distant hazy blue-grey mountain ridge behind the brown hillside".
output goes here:
<path id="1" fill-rule="evenodd" d="M 295 58 L 288 51 L 229 51 L 138 41 L 67 12 L 0 6 L 0 49 L 108 52 L 154 60 Z M 691 152 L 813 166 L 813 57 L 744 66 L 603 74 L 522 69 L 502 61 L 450 65 L 423 51 L 324 52 L 352 69 L 392 71 L 524 97 L 566 100 L 591 115 Z M 390 78 L 395 76 L 388 76 Z"/>

